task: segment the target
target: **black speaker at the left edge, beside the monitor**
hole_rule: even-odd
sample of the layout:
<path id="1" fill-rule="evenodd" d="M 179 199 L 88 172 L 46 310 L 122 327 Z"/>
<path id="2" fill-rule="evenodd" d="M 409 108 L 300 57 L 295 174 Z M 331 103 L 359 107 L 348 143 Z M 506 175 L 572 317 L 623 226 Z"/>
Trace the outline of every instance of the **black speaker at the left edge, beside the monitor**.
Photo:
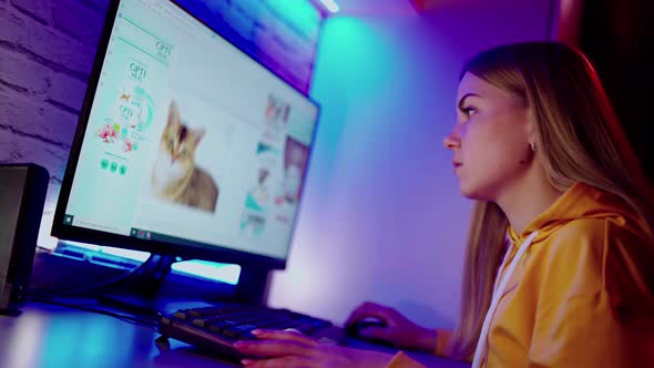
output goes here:
<path id="1" fill-rule="evenodd" d="M 22 304 L 49 178 L 35 164 L 0 165 L 0 313 L 16 311 Z"/>

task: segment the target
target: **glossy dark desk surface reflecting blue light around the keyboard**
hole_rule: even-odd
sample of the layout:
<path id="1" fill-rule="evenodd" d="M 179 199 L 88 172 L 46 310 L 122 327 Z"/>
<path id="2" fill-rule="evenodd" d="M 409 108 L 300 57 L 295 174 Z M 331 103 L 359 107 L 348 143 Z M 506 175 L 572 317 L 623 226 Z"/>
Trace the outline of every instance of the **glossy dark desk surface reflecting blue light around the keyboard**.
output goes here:
<path id="1" fill-rule="evenodd" d="M 76 309 L 29 303 L 18 317 L 0 316 L 0 367 L 238 367 L 170 339 L 160 349 L 154 327 Z M 349 346 L 391 349 L 364 341 Z M 427 354 L 410 354 L 429 367 L 464 368 L 469 365 Z"/>

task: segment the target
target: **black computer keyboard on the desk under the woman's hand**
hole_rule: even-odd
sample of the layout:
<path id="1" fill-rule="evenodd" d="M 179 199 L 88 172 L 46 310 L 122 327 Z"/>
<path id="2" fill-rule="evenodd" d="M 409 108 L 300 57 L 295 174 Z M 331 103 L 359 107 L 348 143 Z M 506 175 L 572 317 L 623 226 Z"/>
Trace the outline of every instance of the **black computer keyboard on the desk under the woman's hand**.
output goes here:
<path id="1" fill-rule="evenodd" d="M 341 328 L 325 319 L 288 309 L 242 304 L 180 309 L 162 316 L 159 323 L 159 333 L 164 338 L 191 344 L 233 361 L 248 358 L 233 344 L 256 339 L 252 330 L 257 328 L 293 329 L 324 344 L 340 344 L 345 337 Z"/>

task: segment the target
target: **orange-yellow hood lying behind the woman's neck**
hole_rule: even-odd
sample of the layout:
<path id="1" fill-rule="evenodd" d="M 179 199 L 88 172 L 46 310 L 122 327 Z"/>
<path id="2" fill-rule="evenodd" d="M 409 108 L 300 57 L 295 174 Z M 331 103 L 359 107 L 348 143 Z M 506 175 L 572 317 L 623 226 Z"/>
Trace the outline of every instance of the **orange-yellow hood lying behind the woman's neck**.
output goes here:
<path id="1" fill-rule="evenodd" d="M 522 233 L 518 234 L 509 226 L 509 237 L 519 248 L 531 233 L 539 232 L 533 239 L 533 243 L 538 243 L 561 226 L 579 218 L 606 218 L 627 228 L 643 231 L 638 215 L 620 196 L 585 183 L 575 183 L 545 212 L 527 225 Z"/>

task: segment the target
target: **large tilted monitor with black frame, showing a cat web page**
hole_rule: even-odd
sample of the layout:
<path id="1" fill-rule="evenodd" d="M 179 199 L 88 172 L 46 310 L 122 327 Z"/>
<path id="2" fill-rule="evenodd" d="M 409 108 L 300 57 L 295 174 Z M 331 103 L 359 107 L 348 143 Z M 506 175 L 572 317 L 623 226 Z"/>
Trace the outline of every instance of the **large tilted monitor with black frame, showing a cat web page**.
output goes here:
<path id="1" fill-rule="evenodd" d="M 174 2 L 113 1 L 52 234 L 283 268 L 318 111 Z"/>

